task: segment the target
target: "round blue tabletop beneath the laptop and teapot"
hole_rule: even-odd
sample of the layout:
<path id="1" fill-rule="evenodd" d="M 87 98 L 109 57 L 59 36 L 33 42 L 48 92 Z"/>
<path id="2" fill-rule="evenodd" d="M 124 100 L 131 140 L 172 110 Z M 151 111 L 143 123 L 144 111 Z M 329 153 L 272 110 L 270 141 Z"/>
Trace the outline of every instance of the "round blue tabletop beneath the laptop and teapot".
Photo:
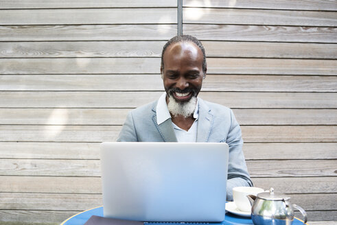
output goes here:
<path id="1" fill-rule="evenodd" d="M 83 211 L 81 213 L 78 213 L 76 215 L 73 215 L 69 219 L 65 220 L 65 222 L 62 222 L 61 225 L 83 225 L 91 215 L 97 215 L 97 216 L 103 216 L 103 206 L 89 209 L 86 211 Z M 151 223 L 148 223 L 151 224 Z M 155 223 L 159 224 L 159 223 Z M 172 223 L 172 224 L 179 224 L 179 223 Z M 185 223 L 185 224 L 204 224 L 204 223 Z M 208 224 L 208 223 L 205 223 Z M 244 224 L 253 224 L 251 218 L 249 217 L 239 217 L 237 215 L 233 215 L 231 213 L 226 213 L 226 216 L 224 217 L 224 221 L 221 223 L 209 223 L 209 224 L 228 224 L 228 225 L 244 225 Z M 292 225 L 301 225 L 303 224 L 303 221 L 295 218 Z M 165 222 L 165 225 L 169 225 L 169 223 Z M 309 225 L 309 224 L 307 224 Z"/>

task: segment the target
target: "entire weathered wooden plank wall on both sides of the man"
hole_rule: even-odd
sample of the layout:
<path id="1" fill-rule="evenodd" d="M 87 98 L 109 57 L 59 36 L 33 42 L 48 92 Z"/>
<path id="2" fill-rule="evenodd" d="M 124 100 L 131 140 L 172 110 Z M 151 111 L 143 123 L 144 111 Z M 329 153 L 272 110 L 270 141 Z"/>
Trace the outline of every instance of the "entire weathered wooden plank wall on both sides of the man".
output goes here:
<path id="1" fill-rule="evenodd" d="M 233 108 L 255 186 L 337 220 L 336 1 L 183 1 L 202 40 L 201 97 Z M 98 145 L 158 98 L 174 1 L 3 0 L 0 222 L 60 223 L 102 205 Z"/>

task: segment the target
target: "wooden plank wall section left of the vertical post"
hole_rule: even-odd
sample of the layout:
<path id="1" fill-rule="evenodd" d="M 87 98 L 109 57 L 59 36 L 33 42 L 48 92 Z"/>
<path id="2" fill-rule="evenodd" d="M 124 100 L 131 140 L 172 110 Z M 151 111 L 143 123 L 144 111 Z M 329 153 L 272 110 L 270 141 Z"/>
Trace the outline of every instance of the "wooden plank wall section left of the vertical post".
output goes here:
<path id="1" fill-rule="evenodd" d="M 161 95 L 176 7 L 1 1 L 0 221 L 59 224 L 102 205 L 98 144 Z"/>

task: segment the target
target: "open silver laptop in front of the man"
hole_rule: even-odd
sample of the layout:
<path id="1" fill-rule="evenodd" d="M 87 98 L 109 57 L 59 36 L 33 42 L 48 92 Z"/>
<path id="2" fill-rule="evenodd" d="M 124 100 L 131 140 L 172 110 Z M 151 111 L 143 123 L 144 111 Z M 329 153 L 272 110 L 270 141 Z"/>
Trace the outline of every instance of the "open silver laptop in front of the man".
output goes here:
<path id="1" fill-rule="evenodd" d="M 105 142 L 100 154 L 104 217 L 224 220 L 226 143 Z"/>

